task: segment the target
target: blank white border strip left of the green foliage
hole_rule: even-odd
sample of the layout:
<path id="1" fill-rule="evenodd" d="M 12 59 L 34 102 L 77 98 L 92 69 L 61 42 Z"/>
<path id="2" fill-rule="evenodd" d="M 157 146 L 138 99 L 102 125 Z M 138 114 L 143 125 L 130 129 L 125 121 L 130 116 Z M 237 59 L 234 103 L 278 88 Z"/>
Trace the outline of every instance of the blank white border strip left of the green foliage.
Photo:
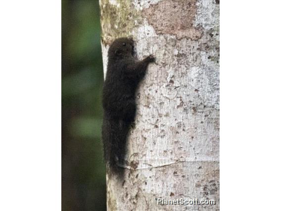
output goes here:
<path id="1" fill-rule="evenodd" d="M 0 210 L 61 209 L 61 2 L 0 5 Z"/>

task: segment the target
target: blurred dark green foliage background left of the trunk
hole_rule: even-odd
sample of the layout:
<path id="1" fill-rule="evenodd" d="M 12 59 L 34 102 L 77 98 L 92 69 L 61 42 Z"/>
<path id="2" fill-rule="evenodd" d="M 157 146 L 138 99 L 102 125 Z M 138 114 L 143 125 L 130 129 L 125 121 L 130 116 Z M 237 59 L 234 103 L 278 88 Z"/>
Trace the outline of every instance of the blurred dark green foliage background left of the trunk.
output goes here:
<path id="1" fill-rule="evenodd" d="M 106 210 L 98 0 L 62 0 L 62 210 Z"/>

